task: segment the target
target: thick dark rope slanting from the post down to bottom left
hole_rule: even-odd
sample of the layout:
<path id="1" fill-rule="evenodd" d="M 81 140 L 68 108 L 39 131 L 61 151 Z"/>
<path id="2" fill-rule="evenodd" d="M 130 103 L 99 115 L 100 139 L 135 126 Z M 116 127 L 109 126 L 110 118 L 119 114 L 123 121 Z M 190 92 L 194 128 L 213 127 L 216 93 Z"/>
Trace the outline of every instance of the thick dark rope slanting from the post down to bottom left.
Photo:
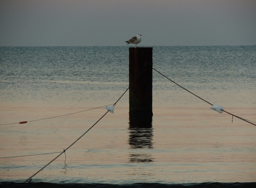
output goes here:
<path id="1" fill-rule="evenodd" d="M 140 74 L 143 72 L 143 70 L 140 72 Z M 138 76 L 135 78 L 135 80 L 140 76 L 140 74 L 138 74 Z M 133 83 L 135 82 L 135 80 L 133 81 Z M 132 83 L 132 84 L 133 84 Z M 132 85 L 131 84 L 131 85 Z M 128 87 L 126 89 L 126 91 L 128 91 L 130 87 Z M 123 93 L 123 95 L 126 93 L 126 91 Z M 123 95 L 121 95 L 121 97 L 123 97 Z M 114 105 L 116 105 L 116 103 L 121 99 L 121 97 L 119 97 L 119 99 L 114 103 Z M 113 106 L 114 106 L 113 105 Z M 65 151 L 67 151 L 71 146 L 73 146 L 79 139 L 81 139 L 89 130 L 91 130 L 94 125 L 96 125 L 107 113 L 109 112 L 109 110 L 96 122 L 94 123 L 85 133 L 83 133 L 83 135 L 81 135 L 81 137 L 79 137 L 78 139 L 76 139 L 75 142 L 73 142 L 69 147 L 67 147 L 66 149 L 64 149 L 64 151 L 62 151 L 57 157 L 55 157 L 53 160 L 51 160 L 47 165 L 45 165 L 43 168 L 41 168 L 40 170 L 38 170 L 38 172 L 36 172 L 35 174 L 33 174 L 31 177 L 29 177 L 28 179 L 26 179 L 26 181 L 24 181 L 24 183 L 26 183 L 28 180 L 30 180 L 33 176 L 35 176 L 36 174 L 38 174 L 41 170 L 43 170 L 45 167 L 47 167 L 48 165 L 50 165 L 55 159 L 57 159 L 59 156 L 61 156 L 63 153 L 65 153 Z M 66 155 L 66 153 L 65 153 Z M 66 161 L 66 160 L 65 160 Z"/>

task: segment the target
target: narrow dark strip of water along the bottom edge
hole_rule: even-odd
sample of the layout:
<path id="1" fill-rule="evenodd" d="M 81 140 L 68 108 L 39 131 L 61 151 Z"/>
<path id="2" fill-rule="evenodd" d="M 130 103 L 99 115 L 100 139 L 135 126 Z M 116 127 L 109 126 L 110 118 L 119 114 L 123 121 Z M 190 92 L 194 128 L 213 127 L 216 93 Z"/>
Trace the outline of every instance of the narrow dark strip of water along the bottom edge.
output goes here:
<path id="1" fill-rule="evenodd" d="M 133 184 L 105 184 L 105 183 L 14 183 L 0 182 L 1 188 L 255 188 L 256 182 L 252 183 L 185 183 L 185 184 L 162 184 L 162 183 L 133 183 Z"/>

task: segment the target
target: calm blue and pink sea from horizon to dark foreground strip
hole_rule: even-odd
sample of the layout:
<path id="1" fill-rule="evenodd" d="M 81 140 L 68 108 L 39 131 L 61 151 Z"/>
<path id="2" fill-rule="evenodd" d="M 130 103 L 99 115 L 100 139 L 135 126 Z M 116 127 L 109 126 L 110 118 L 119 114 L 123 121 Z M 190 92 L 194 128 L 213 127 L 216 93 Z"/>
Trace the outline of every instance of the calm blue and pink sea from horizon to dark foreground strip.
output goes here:
<path id="1" fill-rule="evenodd" d="M 256 122 L 256 46 L 153 46 L 153 68 Z M 83 135 L 126 91 L 128 70 L 127 46 L 0 47 L 0 186 L 24 186 Z M 129 121 L 128 95 L 30 185 L 256 186 L 255 125 L 154 70 L 149 126 Z"/>

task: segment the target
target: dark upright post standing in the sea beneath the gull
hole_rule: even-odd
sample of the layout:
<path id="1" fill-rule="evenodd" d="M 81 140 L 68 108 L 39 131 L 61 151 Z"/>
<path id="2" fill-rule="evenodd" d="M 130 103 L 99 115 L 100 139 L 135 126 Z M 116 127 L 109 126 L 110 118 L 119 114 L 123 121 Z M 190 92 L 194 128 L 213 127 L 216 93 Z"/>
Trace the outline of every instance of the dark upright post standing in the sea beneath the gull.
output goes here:
<path id="1" fill-rule="evenodd" d="M 153 48 L 129 48 L 129 116 L 152 117 Z M 140 74 L 140 72 L 142 72 Z M 136 79 L 136 77 L 140 76 Z M 136 79 L 136 80 L 135 80 Z"/>

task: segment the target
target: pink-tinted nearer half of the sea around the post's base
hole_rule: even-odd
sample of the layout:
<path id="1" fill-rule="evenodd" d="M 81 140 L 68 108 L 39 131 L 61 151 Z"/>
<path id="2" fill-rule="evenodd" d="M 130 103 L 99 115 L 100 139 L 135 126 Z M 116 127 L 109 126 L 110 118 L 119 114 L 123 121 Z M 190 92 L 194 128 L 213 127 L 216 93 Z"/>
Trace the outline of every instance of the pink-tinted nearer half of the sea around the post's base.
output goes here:
<path id="1" fill-rule="evenodd" d="M 2 122 L 30 121 L 81 108 L 1 106 Z M 244 118 L 254 108 L 233 108 Z M 241 113 L 242 111 L 242 113 Z M 0 157 L 61 152 L 106 109 L 66 118 L 2 125 Z M 129 126 L 128 108 L 116 107 L 84 137 L 33 179 L 76 182 L 249 182 L 256 179 L 255 127 L 205 107 L 155 107 L 152 127 Z M 55 131 L 62 125 L 57 131 Z M 0 179 L 24 181 L 55 158 L 50 155 L 0 159 Z"/>

